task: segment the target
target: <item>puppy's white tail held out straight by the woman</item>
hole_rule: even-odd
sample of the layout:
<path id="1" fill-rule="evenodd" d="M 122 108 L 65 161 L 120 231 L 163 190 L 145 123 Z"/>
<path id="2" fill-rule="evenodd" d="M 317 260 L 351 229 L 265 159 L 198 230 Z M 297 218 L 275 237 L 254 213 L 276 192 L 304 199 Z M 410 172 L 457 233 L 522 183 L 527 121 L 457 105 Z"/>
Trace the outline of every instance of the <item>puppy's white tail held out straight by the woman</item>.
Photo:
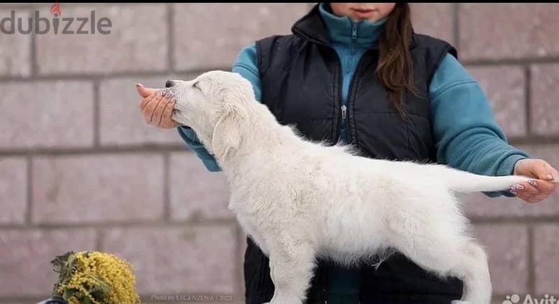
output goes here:
<path id="1" fill-rule="evenodd" d="M 442 177 L 447 183 L 449 190 L 466 193 L 509 190 L 514 184 L 529 182 L 533 180 L 533 178 L 517 175 L 484 176 L 448 167 L 442 174 Z"/>

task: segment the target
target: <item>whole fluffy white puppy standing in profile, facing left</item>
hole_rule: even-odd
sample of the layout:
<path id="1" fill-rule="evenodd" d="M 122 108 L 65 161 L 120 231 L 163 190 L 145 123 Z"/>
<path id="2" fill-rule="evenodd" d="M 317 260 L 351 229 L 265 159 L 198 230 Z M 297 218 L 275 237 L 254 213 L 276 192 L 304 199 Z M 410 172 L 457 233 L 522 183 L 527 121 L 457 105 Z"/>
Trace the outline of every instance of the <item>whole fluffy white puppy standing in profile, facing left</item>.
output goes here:
<path id="1" fill-rule="evenodd" d="M 280 125 L 235 73 L 174 80 L 168 90 L 177 98 L 173 119 L 215 155 L 230 184 L 228 207 L 270 257 L 270 303 L 303 303 L 317 257 L 351 265 L 391 250 L 463 280 L 455 303 L 490 303 L 486 253 L 455 193 L 504 190 L 530 178 L 376 160 L 307 141 Z"/>

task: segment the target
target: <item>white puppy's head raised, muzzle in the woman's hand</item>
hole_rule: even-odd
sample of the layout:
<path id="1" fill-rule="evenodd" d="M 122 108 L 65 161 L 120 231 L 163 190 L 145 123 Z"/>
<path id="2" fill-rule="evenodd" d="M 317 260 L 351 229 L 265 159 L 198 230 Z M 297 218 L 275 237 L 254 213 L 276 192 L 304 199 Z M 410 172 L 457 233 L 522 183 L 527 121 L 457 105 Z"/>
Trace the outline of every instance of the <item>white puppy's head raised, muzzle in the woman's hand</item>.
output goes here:
<path id="1" fill-rule="evenodd" d="M 173 120 L 194 129 L 219 158 L 238 149 L 247 123 L 247 107 L 254 102 L 252 84 L 237 73 L 210 71 L 192 79 L 168 80 L 175 96 Z"/>

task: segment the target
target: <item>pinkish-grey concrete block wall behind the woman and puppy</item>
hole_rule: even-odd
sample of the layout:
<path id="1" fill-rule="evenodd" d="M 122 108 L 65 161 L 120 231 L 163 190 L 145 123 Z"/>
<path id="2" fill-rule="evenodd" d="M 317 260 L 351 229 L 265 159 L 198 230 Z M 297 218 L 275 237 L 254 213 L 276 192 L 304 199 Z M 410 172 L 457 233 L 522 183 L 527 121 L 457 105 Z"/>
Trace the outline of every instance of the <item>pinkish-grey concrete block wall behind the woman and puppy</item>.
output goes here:
<path id="1" fill-rule="evenodd" d="M 241 47 L 289 33 L 311 3 L 60 3 L 109 17 L 108 35 L 0 34 L 0 303 L 50 294 L 50 259 L 103 250 L 131 261 L 152 296 L 242 303 L 244 235 L 220 173 L 176 130 L 145 126 L 133 85 L 228 70 Z M 50 13 L 45 3 L 2 3 Z M 416 31 L 449 40 L 511 144 L 559 167 L 559 5 L 413 4 Z M 27 19 L 26 19 L 27 20 Z M 495 301 L 559 297 L 559 193 L 541 204 L 463 197 L 488 248 Z"/>

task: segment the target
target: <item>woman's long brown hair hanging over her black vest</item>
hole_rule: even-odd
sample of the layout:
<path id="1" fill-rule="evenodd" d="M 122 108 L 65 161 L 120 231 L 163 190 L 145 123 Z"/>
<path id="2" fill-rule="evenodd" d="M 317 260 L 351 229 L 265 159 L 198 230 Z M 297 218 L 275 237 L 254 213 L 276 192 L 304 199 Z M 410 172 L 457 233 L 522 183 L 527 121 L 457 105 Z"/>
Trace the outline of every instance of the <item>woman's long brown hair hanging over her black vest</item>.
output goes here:
<path id="1" fill-rule="evenodd" d="M 405 117 L 406 90 L 416 94 L 409 45 L 412 43 L 412 16 L 408 3 L 396 3 L 379 38 L 377 77 L 389 91 L 396 110 Z"/>

